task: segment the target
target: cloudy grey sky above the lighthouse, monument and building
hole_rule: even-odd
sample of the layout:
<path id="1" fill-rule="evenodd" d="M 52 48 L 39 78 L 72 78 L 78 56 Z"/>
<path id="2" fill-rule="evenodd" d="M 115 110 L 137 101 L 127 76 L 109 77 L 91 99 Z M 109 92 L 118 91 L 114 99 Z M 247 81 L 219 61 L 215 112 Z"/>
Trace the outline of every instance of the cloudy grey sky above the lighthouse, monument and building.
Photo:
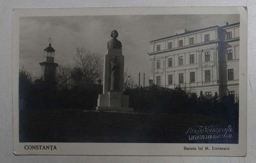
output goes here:
<path id="1" fill-rule="evenodd" d="M 105 56 L 107 42 L 114 29 L 122 43 L 124 69 L 128 69 L 136 83 L 145 86 L 150 79 L 149 41 L 174 35 L 175 30 L 188 31 L 239 22 L 238 14 L 229 15 L 99 15 L 20 17 L 20 69 L 24 67 L 40 77 L 40 62 L 44 49 L 56 50 L 54 62 L 73 64 L 76 48 L 86 48 Z"/>

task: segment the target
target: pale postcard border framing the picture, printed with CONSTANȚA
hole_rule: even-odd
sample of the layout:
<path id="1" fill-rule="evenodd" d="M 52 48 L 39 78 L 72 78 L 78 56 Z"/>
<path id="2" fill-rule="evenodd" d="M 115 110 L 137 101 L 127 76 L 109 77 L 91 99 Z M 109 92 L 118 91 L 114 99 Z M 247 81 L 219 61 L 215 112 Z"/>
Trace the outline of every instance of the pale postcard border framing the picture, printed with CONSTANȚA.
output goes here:
<path id="1" fill-rule="evenodd" d="M 26 16 L 138 14 L 240 14 L 239 144 L 167 143 L 20 143 L 19 142 L 19 19 Z M 247 10 L 244 7 L 117 7 L 72 9 L 14 9 L 12 29 L 13 151 L 16 155 L 145 155 L 245 156 L 247 129 Z M 243 56 L 242 56 L 243 55 Z M 27 150 L 29 145 L 50 145 L 52 150 Z M 54 149 L 54 146 L 56 149 Z M 183 147 L 229 147 L 228 151 L 184 150 Z"/>

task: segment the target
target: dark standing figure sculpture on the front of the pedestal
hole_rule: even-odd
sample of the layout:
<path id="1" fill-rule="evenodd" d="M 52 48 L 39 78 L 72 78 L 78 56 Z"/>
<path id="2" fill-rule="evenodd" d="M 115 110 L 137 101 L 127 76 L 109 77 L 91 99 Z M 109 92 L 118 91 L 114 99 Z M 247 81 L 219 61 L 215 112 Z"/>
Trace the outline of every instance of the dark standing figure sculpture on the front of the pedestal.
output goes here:
<path id="1" fill-rule="evenodd" d="M 110 90 L 119 90 L 119 64 L 116 61 L 117 57 L 114 56 L 114 61 L 111 64 L 111 78 L 110 78 Z"/>

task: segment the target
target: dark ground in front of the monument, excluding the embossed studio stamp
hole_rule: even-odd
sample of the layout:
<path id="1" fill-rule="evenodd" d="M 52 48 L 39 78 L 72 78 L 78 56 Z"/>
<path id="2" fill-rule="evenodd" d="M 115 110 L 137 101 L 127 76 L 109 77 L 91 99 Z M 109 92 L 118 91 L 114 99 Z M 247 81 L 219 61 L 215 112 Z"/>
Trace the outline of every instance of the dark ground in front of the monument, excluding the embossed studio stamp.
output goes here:
<path id="1" fill-rule="evenodd" d="M 189 140 L 188 128 L 232 126 L 231 138 Z M 196 135 L 196 134 L 194 134 Z M 20 111 L 20 142 L 238 143 L 237 115 L 120 113 L 84 110 Z"/>

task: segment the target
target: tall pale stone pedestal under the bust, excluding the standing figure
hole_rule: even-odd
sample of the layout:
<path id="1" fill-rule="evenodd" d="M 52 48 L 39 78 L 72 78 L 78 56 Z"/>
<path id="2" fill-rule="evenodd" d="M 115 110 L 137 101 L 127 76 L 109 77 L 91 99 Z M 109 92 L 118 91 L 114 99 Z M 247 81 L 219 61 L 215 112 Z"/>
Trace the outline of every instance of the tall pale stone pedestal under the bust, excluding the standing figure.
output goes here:
<path id="1" fill-rule="evenodd" d="M 110 90 L 111 62 L 114 56 L 119 64 L 119 90 Z M 99 95 L 97 110 L 115 110 L 133 112 L 129 107 L 129 96 L 124 95 L 124 56 L 122 49 L 108 49 L 104 58 L 103 94 Z"/>

